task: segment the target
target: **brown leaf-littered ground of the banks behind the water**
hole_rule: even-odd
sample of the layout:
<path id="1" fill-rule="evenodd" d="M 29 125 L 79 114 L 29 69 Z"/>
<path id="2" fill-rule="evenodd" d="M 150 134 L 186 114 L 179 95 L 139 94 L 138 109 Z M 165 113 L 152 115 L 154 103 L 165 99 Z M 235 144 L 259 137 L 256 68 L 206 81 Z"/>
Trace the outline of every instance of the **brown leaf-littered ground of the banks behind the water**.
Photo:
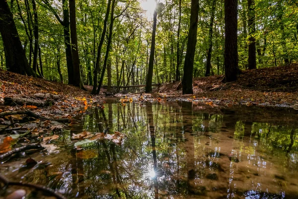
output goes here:
<path id="1" fill-rule="evenodd" d="M 298 64 L 243 71 L 238 80 L 232 83 L 223 83 L 223 78 L 223 75 L 195 78 L 193 95 L 182 95 L 179 82 L 163 84 L 154 89 L 153 94 L 142 94 L 141 100 L 189 100 L 211 106 L 220 104 L 228 107 L 243 104 L 298 108 Z M 0 103 L 3 103 L 5 97 L 36 99 L 35 95 L 51 95 L 56 98 L 59 96 L 60 102 L 55 104 L 58 108 L 62 106 L 73 109 L 80 107 L 81 109 L 82 106 L 85 108 L 99 105 L 100 101 L 103 101 L 105 95 L 102 92 L 105 92 L 105 89 L 101 90 L 102 95 L 95 97 L 90 96 L 91 86 L 85 86 L 85 88 L 88 91 L 0 70 Z M 126 96 L 128 99 L 140 101 L 140 93 L 116 94 L 115 96 L 122 98 Z M 0 106 L 0 112 L 6 109 L 11 109 L 11 107 Z"/>

